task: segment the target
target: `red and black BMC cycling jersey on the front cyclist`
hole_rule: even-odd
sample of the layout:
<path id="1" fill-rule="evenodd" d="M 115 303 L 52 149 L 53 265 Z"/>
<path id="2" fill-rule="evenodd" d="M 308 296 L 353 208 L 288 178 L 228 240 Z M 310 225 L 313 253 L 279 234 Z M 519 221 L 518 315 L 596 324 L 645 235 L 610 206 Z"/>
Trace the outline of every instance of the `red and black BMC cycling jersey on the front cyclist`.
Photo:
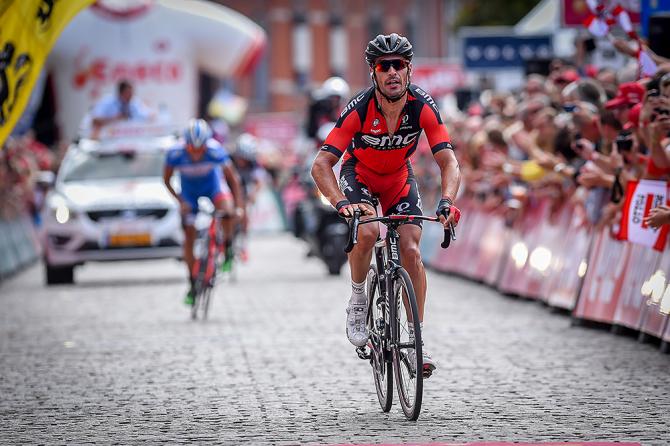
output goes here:
<path id="1" fill-rule="evenodd" d="M 453 150 L 437 105 L 428 93 L 410 84 L 407 101 L 390 136 L 375 89 L 370 87 L 347 104 L 321 150 L 337 157 L 346 151 L 343 162 L 353 157 L 378 174 L 390 174 L 406 166 L 421 130 L 426 132 L 433 154 Z"/>

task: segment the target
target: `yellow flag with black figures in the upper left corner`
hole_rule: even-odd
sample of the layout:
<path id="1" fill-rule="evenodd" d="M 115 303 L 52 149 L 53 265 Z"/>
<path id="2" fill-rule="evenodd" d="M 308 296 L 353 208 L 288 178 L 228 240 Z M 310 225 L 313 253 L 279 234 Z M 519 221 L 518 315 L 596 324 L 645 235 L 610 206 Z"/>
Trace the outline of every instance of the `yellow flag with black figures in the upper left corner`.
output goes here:
<path id="1" fill-rule="evenodd" d="M 63 28 L 94 0 L 0 0 L 0 145 Z"/>

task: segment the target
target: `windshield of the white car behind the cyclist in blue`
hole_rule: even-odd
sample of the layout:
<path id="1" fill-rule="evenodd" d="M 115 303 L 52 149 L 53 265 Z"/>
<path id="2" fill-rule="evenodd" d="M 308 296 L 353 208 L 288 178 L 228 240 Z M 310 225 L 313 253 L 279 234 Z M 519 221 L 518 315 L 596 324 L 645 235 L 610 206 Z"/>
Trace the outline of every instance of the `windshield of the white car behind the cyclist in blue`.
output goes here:
<path id="1" fill-rule="evenodd" d="M 63 181 L 157 177 L 163 172 L 164 154 L 150 152 L 99 153 L 79 151 L 63 164 Z"/>

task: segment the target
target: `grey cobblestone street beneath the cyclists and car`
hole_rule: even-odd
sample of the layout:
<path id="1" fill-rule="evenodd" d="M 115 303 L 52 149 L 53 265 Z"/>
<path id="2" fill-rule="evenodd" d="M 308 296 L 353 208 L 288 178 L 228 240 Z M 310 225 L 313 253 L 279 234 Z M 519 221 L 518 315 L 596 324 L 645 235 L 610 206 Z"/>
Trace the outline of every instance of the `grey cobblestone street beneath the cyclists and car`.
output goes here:
<path id="1" fill-rule="evenodd" d="M 348 272 L 289 235 L 252 240 L 210 320 L 174 260 L 0 285 L 0 443 L 637 441 L 670 444 L 670 356 L 540 304 L 430 272 L 439 362 L 419 421 L 384 414 L 344 333 Z"/>

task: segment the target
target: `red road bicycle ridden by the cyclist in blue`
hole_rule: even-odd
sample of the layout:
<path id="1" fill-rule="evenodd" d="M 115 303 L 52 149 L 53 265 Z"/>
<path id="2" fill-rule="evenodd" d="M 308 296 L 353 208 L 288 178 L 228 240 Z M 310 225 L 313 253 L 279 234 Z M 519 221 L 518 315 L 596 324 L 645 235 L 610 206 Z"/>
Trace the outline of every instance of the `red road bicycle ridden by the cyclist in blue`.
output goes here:
<path id="1" fill-rule="evenodd" d="M 216 284 L 217 274 L 224 259 L 223 219 L 233 218 L 225 211 L 215 210 L 210 213 L 211 221 L 204 230 L 198 231 L 195 241 L 196 251 L 193 263 L 193 305 L 191 306 L 191 319 L 200 317 L 207 319 L 209 306 L 212 298 L 212 290 Z"/>

